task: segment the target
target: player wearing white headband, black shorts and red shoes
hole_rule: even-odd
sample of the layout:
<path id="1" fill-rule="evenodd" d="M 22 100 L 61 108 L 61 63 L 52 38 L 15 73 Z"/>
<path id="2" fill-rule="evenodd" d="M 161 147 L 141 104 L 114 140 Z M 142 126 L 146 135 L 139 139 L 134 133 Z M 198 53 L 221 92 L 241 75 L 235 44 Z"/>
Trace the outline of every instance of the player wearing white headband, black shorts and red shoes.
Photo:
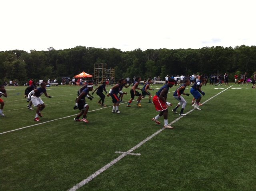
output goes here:
<path id="1" fill-rule="evenodd" d="M 74 106 L 74 109 L 79 109 L 80 113 L 74 118 L 74 121 L 84 121 L 85 123 L 89 123 L 89 121 L 86 119 L 87 112 L 89 110 L 89 105 L 85 101 L 85 97 L 92 100 L 92 97 L 88 96 L 89 92 L 92 91 L 93 84 L 88 83 L 87 88 L 82 90 L 82 92 L 79 94 L 79 96 L 76 98 L 76 105 Z M 79 118 L 83 115 L 82 120 Z"/>

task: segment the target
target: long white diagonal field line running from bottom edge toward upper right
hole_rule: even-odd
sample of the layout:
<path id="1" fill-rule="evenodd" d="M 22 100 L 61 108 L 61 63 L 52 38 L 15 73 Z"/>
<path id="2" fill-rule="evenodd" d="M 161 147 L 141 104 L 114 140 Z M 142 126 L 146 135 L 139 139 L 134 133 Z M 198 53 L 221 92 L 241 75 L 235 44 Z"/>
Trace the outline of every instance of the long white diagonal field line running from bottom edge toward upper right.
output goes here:
<path id="1" fill-rule="evenodd" d="M 232 86 L 230 86 L 229 88 L 231 88 Z M 229 88 L 223 90 L 222 92 L 228 90 Z M 206 101 L 204 101 L 204 103 L 206 103 L 207 101 L 210 101 L 212 98 L 218 96 L 219 94 L 221 94 L 222 92 L 219 92 L 218 94 L 216 94 L 213 97 L 210 97 L 209 99 L 207 99 Z M 190 113 L 192 111 L 194 111 L 195 108 L 191 109 L 190 111 L 188 111 L 187 113 Z M 186 114 L 187 114 L 186 113 Z M 175 119 L 174 121 L 172 121 L 171 123 L 169 123 L 169 125 L 172 125 L 173 123 L 177 122 L 179 119 L 181 119 L 182 117 L 184 117 L 184 115 L 178 117 L 177 119 Z M 117 157 L 116 159 L 112 160 L 110 163 L 108 163 L 107 165 L 105 165 L 104 167 L 102 167 L 101 169 L 99 169 L 98 171 L 96 171 L 95 173 L 93 173 L 92 175 L 88 176 L 86 179 L 82 180 L 80 183 L 76 184 L 74 187 L 70 188 L 68 191 L 76 191 L 77 189 L 79 189 L 80 187 L 84 186 L 85 184 L 87 184 L 88 182 L 90 182 L 92 179 L 94 179 L 95 177 L 97 177 L 100 173 L 104 172 L 106 169 L 108 169 L 109 167 L 111 167 L 112 165 L 114 165 L 115 163 L 117 163 L 118 161 L 120 161 L 122 158 L 124 158 L 126 155 L 129 155 L 130 153 L 132 153 L 132 151 L 134 151 L 135 149 L 137 149 L 138 147 L 140 147 L 141 145 L 143 145 L 144 143 L 146 143 L 146 141 L 150 140 L 151 138 L 153 138 L 154 136 L 156 136 L 158 133 L 162 132 L 164 130 L 164 127 L 158 131 L 156 131 L 156 133 L 150 135 L 149 137 L 147 137 L 146 139 L 144 139 L 143 141 L 141 141 L 140 143 L 138 143 L 138 145 L 135 145 L 134 147 L 132 147 L 130 150 L 122 153 L 122 155 L 120 155 L 119 157 Z M 171 130 L 170 130 L 171 131 Z"/>

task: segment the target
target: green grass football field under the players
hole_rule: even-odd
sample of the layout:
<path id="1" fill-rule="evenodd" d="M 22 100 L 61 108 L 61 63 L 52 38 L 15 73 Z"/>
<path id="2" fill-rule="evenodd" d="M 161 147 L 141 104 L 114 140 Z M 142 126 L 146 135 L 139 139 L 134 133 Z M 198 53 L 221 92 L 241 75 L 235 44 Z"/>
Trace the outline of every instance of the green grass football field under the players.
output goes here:
<path id="1" fill-rule="evenodd" d="M 174 105 L 168 122 L 177 119 L 174 129 L 162 129 L 163 117 L 161 125 L 151 120 L 157 112 L 148 98 L 142 99 L 141 108 L 123 103 L 116 114 L 111 112 L 112 99 L 106 97 L 107 107 L 101 107 L 96 94 L 87 100 L 90 123 L 76 122 L 77 86 L 49 87 L 53 97 L 41 96 L 46 108 L 37 122 L 35 110 L 27 109 L 25 88 L 6 87 L 8 97 L 1 97 L 6 115 L 0 116 L 1 191 L 66 191 L 102 168 L 78 190 L 256 190 L 256 90 L 251 86 L 203 86 L 202 110 L 193 109 L 191 95 L 183 96 L 188 102 L 184 112 L 190 112 L 179 119 L 171 111 L 178 103 L 172 97 L 178 86 L 170 88 L 168 101 Z M 128 101 L 130 88 L 124 91 Z M 141 155 L 126 153 L 117 159 L 122 154 L 116 151 L 130 149 Z"/>

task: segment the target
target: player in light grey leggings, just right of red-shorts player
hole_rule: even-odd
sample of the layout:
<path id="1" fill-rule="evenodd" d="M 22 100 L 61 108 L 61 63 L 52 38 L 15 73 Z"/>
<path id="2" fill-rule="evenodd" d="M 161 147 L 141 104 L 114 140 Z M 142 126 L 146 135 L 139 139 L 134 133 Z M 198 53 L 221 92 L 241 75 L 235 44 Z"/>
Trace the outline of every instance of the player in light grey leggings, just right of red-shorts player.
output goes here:
<path id="1" fill-rule="evenodd" d="M 172 111 L 173 111 L 174 113 L 177 113 L 176 110 L 177 110 L 178 107 L 180 107 L 180 105 L 181 105 L 181 110 L 180 110 L 180 114 L 179 114 L 179 115 L 186 115 L 186 114 L 183 113 L 183 111 L 184 111 L 184 109 L 185 109 L 185 107 L 186 107 L 187 102 L 186 102 L 186 100 L 181 96 L 182 94 L 183 94 L 183 95 L 186 95 L 186 96 L 189 96 L 189 94 L 185 94 L 185 93 L 184 93 L 184 90 L 185 90 L 186 86 L 190 86 L 190 80 L 184 80 L 184 84 L 182 84 L 177 90 L 175 90 L 175 92 L 174 92 L 174 94 L 173 94 L 173 97 L 174 97 L 175 99 L 177 99 L 178 101 L 180 101 L 180 102 L 178 103 L 178 105 L 177 105 L 174 109 L 172 109 Z"/>

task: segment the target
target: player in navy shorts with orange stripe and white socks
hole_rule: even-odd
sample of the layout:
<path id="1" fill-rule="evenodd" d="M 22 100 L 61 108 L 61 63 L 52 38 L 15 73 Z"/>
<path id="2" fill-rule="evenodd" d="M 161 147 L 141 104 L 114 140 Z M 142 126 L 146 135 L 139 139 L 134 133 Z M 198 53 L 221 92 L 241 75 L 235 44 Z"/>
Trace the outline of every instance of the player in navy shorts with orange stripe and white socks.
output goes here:
<path id="1" fill-rule="evenodd" d="M 118 84 L 116 84 L 115 86 L 113 86 L 110 90 L 109 90 L 109 94 L 108 96 L 112 97 L 112 102 L 113 104 L 113 109 L 112 109 L 112 113 L 121 113 L 119 111 L 119 103 L 120 103 L 120 98 L 118 97 L 118 93 L 120 94 L 127 94 L 126 92 L 122 92 L 120 91 L 120 88 L 122 87 L 123 84 L 125 84 L 125 80 L 123 78 L 121 78 L 118 81 Z"/>

